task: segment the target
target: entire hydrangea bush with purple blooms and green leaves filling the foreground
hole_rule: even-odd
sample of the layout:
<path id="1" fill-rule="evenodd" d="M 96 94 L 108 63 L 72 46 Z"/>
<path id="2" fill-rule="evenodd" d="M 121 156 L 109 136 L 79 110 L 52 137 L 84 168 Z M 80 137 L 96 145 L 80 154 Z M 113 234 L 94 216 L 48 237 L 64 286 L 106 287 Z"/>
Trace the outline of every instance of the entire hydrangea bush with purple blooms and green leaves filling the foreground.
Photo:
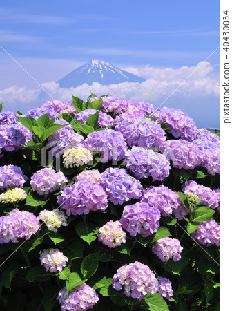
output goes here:
<path id="1" fill-rule="evenodd" d="M 0 310 L 219 310 L 219 137 L 186 113 L 2 112 L 0 160 Z"/>

